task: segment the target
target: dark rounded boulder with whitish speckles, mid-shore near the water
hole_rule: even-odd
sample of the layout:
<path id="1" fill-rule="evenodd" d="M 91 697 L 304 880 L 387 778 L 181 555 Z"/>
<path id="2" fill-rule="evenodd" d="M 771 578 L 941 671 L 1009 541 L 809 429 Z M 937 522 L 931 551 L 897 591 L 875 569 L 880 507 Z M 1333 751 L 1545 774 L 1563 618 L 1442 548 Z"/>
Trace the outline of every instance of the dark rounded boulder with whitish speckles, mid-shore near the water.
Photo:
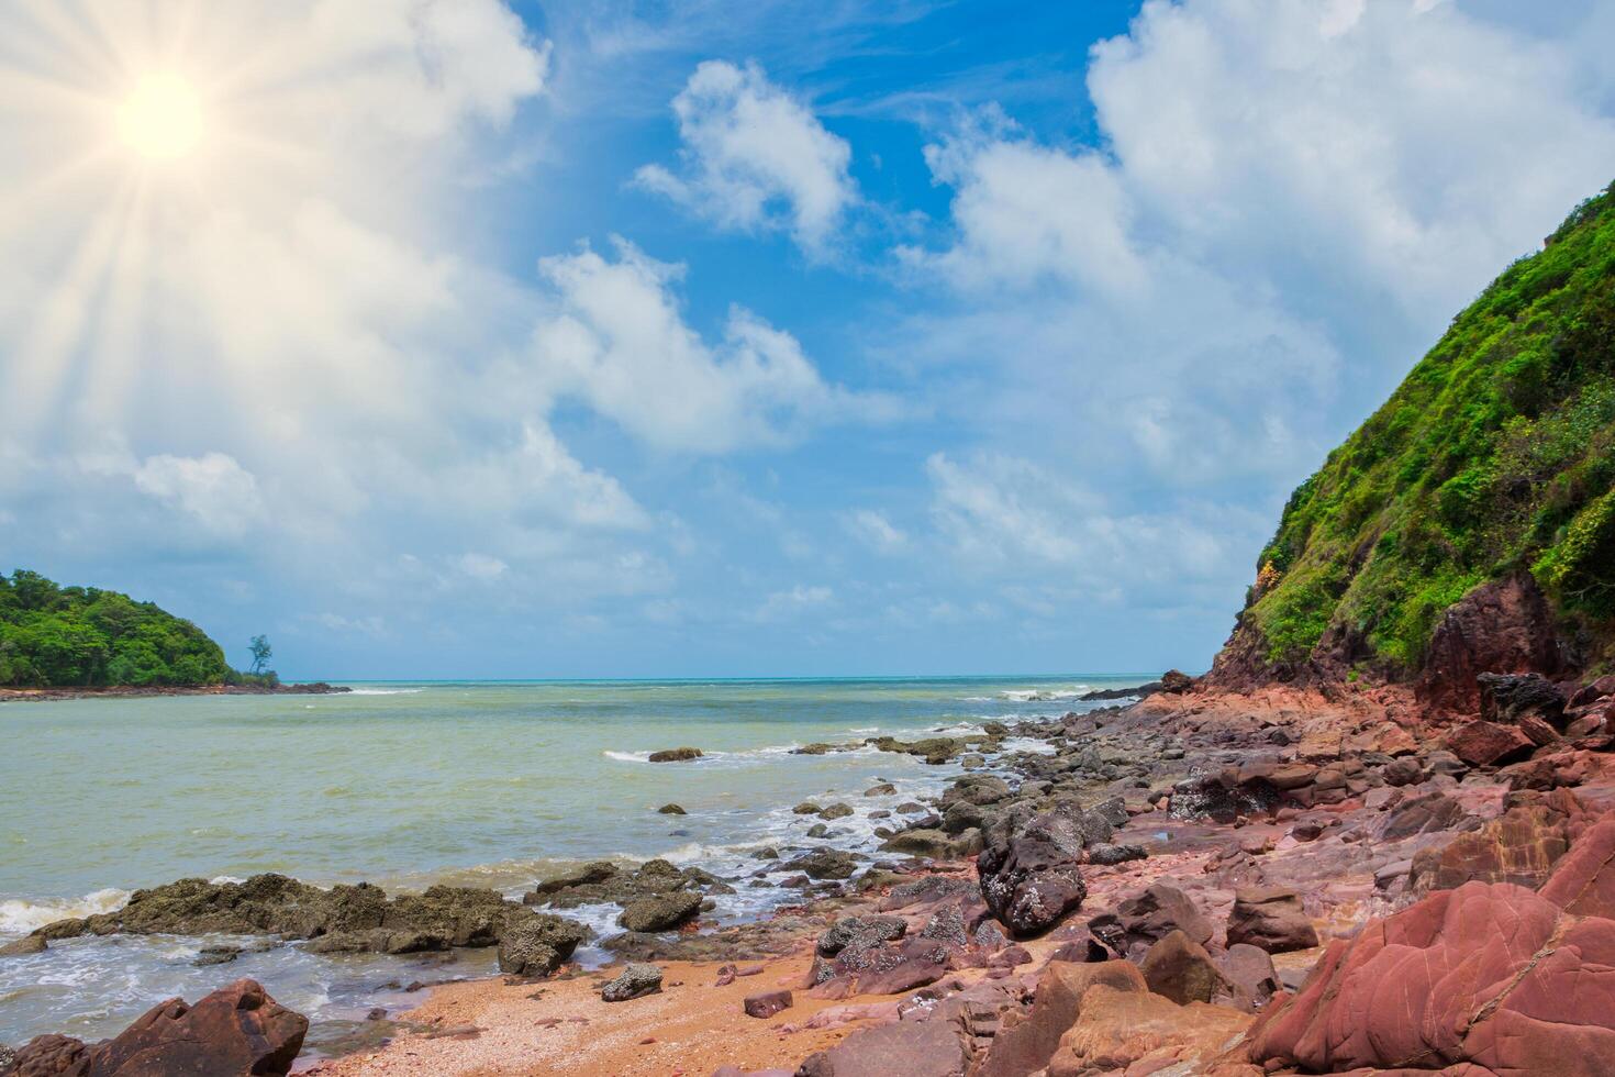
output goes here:
<path id="1" fill-rule="evenodd" d="M 1079 862 L 1085 838 L 1064 812 L 1035 815 L 1016 832 L 995 828 L 975 861 L 982 898 L 1019 937 L 1055 927 L 1087 896 Z"/>

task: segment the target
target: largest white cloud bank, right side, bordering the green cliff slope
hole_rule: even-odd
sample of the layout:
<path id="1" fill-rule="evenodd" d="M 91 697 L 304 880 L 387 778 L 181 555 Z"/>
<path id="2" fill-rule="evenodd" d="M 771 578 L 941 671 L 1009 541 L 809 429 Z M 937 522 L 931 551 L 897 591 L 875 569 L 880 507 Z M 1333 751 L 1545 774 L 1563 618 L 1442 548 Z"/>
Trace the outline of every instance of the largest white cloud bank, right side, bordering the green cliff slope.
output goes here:
<path id="1" fill-rule="evenodd" d="M 950 241 L 900 254 L 956 305 L 890 350 L 985 388 L 993 450 L 929 465 L 954 551 L 1235 594 L 1282 494 L 1609 181 L 1591 63 L 1452 3 L 1148 0 L 1092 50 L 1101 150 L 996 110 L 940 137 Z"/>

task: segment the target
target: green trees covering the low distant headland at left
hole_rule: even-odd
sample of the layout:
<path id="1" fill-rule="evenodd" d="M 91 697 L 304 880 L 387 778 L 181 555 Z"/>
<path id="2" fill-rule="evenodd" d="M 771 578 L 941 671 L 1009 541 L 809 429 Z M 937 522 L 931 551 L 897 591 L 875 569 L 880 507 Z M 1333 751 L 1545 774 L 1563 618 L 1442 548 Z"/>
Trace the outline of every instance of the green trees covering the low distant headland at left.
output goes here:
<path id="1" fill-rule="evenodd" d="M 61 588 L 21 568 L 0 576 L 0 685 L 218 685 L 229 677 L 216 643 L 152 602 Z"/>

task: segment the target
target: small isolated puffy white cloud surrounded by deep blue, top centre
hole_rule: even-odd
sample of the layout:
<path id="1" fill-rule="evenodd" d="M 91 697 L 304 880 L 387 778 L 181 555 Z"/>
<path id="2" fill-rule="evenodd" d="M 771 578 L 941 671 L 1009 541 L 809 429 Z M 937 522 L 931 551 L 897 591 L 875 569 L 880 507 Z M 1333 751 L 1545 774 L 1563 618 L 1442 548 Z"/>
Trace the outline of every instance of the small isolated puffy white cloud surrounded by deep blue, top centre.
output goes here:
<path id="1" fill-rule="evenodd" d="M 635 182 L 722 228 L 780 228 L 824 255 L 858 187 L 851 149 L 762 68 L 722 60 L 698 66 L 673 98 L 683 174 L 646 165 Z"/>

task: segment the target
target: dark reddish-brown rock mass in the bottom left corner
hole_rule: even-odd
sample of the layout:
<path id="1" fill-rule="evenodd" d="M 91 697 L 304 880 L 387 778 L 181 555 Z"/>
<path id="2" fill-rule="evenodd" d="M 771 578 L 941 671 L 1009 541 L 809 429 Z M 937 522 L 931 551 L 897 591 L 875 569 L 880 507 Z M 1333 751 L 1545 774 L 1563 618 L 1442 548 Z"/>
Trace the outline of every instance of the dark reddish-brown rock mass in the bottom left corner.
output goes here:
<path id="1" fill-rule="evenodd" d="M 168 1077 L 171 1074 L 286 1074 L 308 1020 L 254 980 L 236 980 L 195 1006 L 158 1003 L 111 1040 L 94 1046 L 36 1037 L 16 1053 L 19 1077 Z"/>

